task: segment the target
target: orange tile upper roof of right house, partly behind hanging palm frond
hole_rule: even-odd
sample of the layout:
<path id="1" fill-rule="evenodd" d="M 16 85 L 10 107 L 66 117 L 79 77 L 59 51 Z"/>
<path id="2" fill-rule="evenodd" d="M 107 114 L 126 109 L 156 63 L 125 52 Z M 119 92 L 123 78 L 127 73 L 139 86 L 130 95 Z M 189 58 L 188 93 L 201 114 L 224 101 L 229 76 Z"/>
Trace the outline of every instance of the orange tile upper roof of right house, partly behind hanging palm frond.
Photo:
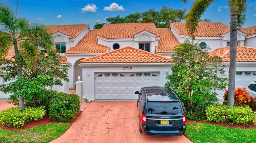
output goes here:
<path id="1" fill-rule="evenodd" d="M 230 30 L 230 27 L 221 22 L 199 22 L 196 37 L 220 37 L 224 32 Z M 185 23 L 171 23 L 170 27 L 179 34 L 190 36 L 187 33 Z"/>

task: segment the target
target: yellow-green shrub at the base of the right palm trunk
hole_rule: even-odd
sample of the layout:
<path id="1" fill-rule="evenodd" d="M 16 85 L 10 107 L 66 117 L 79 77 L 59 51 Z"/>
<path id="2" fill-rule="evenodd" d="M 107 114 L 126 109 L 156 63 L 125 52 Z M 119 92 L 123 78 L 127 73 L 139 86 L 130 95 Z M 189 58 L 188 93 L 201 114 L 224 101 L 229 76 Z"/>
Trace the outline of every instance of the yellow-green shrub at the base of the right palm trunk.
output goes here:
<path id="1" fill-rule="evenodd" d="M 229 124 L 245 124 L 253 123 L 255 113 L 249 107 L 234 106 L 228 108 L 227 105 L 213 104 L 206 109 L 206 117 L 208 121 L 227 122 Z"/>

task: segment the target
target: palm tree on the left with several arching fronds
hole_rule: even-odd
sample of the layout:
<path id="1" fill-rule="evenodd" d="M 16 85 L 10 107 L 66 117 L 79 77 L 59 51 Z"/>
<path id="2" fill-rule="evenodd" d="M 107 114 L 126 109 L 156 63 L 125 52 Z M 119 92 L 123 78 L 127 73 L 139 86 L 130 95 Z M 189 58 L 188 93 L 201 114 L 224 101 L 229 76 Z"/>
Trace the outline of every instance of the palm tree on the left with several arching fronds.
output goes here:
<path id="1" fill-rule="evenodd" d="M 38 49 L 55 52 L 49 29 L 40 24 L 29 24 L 26 19 L 16 18 L 9 6 L 0 3 L 0 59 L 8 54 L 11 47 L 14 47 L 14 59 L 19 67 L 18 79 L 22 78 L 20 52 L 23 53 L 22 60 L 30 71 L 36 70 Z M 19 108 L 24 109 L 22 96 L 19 96 Z"/>

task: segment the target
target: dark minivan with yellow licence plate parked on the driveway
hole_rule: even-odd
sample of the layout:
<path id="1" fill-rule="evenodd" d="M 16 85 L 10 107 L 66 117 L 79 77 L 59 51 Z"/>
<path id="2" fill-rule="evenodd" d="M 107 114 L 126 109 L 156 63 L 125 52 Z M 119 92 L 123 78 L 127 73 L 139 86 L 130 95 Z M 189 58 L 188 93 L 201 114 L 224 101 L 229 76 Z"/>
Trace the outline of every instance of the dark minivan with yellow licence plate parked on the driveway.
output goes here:
<path id="1" fill-rule="evenodd" d="M 138 94 L 141 133 L 155 136 L 184 134 L 186 116 L 181 101 L 171 88 L 143 87 L 135 94 Z"/>

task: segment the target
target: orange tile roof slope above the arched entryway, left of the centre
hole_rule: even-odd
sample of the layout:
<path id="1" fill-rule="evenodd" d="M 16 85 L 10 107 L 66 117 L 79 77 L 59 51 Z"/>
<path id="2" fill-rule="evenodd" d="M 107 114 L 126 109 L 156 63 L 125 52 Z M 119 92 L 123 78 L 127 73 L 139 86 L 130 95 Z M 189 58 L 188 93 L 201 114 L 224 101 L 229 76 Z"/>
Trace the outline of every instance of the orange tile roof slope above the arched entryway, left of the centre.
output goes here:
<path id="1" fill-rule="evenodd" d="M 98 44 L 97 33 L 100 29 L 90 30 L 76 45 L 65 54 L 105 53 L 109 47 Z"/>

